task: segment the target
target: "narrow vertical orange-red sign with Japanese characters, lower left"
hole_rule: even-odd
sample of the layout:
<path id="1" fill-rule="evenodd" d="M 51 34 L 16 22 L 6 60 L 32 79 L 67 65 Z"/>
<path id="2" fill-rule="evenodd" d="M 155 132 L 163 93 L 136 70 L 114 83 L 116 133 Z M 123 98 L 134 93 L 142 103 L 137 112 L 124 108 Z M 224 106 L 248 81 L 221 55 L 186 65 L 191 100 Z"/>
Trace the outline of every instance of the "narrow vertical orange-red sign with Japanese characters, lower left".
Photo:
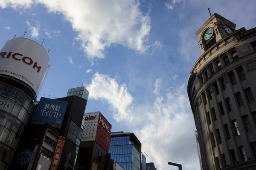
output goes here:
<path id="1" fill-rule="evenodd" d="M 63 150 L 65 139 L 66 138 L 61 137 L 61 136 L 58 139 L 58 144 L 56 146 L 56 150 L 55 150 L 55 153 L 54 153 L 54 157 L 52 159 L 52 165 L 51 165 L 50 170 L 57 170 L 58 169 L 58 164 L 59 164 L 59 161 L 61 159 L 61 153 L 62 153 L 62 150 Z"/>

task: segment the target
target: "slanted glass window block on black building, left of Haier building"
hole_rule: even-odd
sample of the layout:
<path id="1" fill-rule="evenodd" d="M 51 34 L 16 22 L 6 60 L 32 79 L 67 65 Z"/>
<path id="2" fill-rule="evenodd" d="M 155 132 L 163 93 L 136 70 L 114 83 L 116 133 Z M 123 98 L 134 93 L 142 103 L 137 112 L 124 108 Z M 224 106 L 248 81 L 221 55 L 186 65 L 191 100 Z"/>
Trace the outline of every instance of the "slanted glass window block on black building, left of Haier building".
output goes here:
<path id="1" fill-rule="evenodd" d="M 67 133 L 67 138 L 73 141 L 77 146 L 80 145 L 82 132 L 83 130 L 72 120 L 70 120 L 70 127 Z"/>

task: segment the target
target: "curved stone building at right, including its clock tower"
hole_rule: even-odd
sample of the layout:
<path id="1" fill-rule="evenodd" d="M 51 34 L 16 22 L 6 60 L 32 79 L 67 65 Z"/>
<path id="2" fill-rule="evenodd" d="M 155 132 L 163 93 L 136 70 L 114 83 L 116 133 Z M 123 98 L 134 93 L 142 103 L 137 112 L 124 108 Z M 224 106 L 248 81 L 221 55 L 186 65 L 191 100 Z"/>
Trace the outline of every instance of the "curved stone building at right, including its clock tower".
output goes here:
<path id="1" fill-rule="evenodd" d="M 203 170 L 256 169 L 256 28 L 213 14 L 196 32 L 201 56 L 188 95 Z"/>

